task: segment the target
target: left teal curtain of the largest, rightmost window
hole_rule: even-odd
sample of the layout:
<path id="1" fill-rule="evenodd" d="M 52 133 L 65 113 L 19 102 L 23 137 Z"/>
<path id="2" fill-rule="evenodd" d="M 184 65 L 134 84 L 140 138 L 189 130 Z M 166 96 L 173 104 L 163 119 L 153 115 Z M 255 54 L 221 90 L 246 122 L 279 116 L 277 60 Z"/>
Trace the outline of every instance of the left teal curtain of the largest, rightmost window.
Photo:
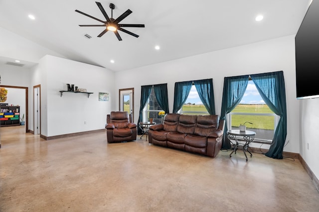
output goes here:
<path id="1" fill-rule="evenodd" d="M 248 79 L 249 75 L 231 76 L 224 78 L 224 89 L 220 114 L 220 119 L 225 120 L 222 149 L 229 149 L 231 147 L 230 141 L 227 138 L 228 128 L 226 115 L 230 113 L 243 98 L 247 88 Z"/>

